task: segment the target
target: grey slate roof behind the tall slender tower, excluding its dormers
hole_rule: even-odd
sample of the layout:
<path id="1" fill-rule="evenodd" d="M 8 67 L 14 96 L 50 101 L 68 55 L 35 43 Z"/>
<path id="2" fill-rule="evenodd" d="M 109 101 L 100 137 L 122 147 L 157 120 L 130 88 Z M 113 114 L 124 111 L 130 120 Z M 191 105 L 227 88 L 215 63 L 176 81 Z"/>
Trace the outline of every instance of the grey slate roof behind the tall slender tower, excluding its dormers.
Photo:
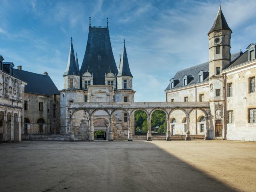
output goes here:
<path id="1" fill-rule="evenodd" d="M 232 61 L 236 62 L 241 55 L 243 55 L 241 51 L 239 51 L 235 54 L 232 54 L 231 55 L 231 62 Z M 205 63 L 202 63 L 200 65 L 192 66 L 190 68 L 186 68 L 186 69 L 178 71 L 175 74 L 175 76 L 173 77 L 173 79 L 178 79 L 178 80 L 180 80 L 180 82 L 174 88 L 183 87 L 183 76 L 184 75 L 194 76 L 194 79 L 190 83 L 188 83 L 188 85 L 199 83 L 198 72 L 200 72 L 200 70 L 209 72 L 209 62 L 205 62 Z M 208 81 L 208 80 L 209 80 L 209 76 L 207 78 L 205 78 L 203 80 L 203 82 Z M 165 90 L 170 90 L 170 89 L 171 88 L 170 88 L 170 83 L 169 83 Z"/>

